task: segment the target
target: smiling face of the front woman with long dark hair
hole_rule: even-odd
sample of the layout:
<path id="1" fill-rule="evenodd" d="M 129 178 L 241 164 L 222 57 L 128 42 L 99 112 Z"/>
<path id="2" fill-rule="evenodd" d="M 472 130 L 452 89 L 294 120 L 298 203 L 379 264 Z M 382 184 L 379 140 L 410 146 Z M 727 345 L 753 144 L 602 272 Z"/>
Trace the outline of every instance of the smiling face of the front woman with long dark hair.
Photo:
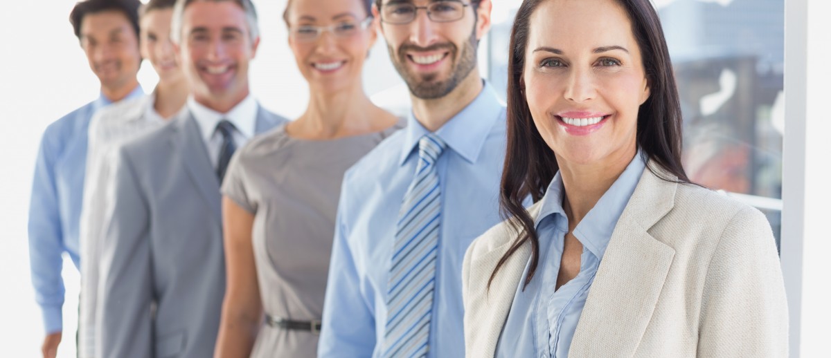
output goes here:
<path id="1" fill-rule="evenodd" d="M 637 151 L 649 98 L 632 22 L 614 0 L 548 0 L 529 24 L 522 83 L 558 162 L 602 163 Z"/>

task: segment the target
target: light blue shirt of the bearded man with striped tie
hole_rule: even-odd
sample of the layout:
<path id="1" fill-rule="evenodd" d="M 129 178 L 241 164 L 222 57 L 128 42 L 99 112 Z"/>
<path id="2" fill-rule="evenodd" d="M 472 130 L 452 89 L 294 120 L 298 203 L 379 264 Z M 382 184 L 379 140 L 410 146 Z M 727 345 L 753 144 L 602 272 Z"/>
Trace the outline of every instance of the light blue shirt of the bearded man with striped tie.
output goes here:
<path id="1" fill-rule="evenodd" d="M 329 271 L 321 357 L 378 357 L 396 222 L 416 174 L 418 142 L 429 133 L 412 116 L 344 177 Z M 506 148 L 505 108 L 490 85 L 435 132 L 447 143 L 436 161 L 441 186 L 439 256 L 429 357 L 465 356 L 462 260 L 473 240 L 499 221 Z"/>

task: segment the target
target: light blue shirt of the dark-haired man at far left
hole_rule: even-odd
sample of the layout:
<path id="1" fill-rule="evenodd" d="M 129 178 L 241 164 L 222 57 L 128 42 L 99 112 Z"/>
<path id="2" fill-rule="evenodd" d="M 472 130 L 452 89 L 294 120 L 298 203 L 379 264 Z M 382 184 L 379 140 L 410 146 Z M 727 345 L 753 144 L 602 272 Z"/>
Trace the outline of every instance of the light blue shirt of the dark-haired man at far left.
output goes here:
<path id="1" fill-rule="evenodd" d="M 144 94 L 136 87 L 126 99 Z M 29 206 L 29 260 L 35 299 L 43 312 L 47 333 L 61 331 L 64 286 L 61 278 L 66 251 L 76 268 L 78 226 L 86 173 L 86 138 L 92 115 L 111 104 L 103 94 L 50 124 L 37 153 Z"/>

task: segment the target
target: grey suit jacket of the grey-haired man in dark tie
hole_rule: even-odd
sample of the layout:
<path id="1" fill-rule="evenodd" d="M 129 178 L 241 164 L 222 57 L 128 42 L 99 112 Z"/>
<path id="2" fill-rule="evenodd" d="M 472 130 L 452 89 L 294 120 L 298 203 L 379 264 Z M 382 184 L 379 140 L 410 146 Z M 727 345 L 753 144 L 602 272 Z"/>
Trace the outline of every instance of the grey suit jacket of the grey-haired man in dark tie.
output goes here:
<path id="1" fill-rule="evenodd" d="M 258 109 L 256 132 L 285 119 Z M 219 179 L 189 110 L 125 144 L 101 244 L 101 357 L 214 354 L 225 292 Z"/>

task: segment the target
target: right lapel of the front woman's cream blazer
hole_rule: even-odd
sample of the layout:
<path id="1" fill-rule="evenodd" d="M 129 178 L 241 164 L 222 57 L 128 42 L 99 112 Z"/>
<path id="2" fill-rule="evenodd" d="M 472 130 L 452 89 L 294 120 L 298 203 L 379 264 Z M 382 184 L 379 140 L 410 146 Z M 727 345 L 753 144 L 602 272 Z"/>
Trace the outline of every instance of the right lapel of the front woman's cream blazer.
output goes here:
<path id="1" fill-rule="evenodd" d="M 612 233 L 570 348 L 570 356 L 633 356 L 652 318 L 675 249 L 647 230 L 674 205 L 676 180 L 647 165 Z"/>

